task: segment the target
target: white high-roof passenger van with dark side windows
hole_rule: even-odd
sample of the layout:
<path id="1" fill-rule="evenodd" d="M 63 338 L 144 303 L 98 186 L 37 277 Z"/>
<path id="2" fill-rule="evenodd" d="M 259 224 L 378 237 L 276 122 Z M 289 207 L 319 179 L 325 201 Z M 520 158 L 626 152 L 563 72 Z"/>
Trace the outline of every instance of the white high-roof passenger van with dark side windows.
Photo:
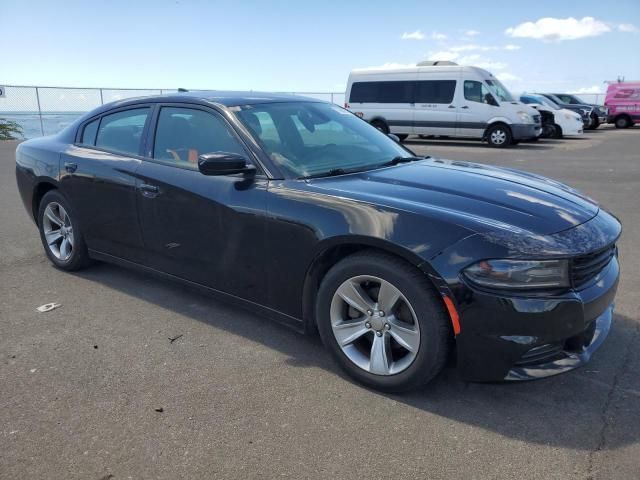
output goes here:
<path id="1" fill-rule="evenodd" d="M 345 108 L 385 133 L 481 138 L 507 147 L 541 133 L 540 114 L 491 73 L 452 62 L 354 70 Z"/>

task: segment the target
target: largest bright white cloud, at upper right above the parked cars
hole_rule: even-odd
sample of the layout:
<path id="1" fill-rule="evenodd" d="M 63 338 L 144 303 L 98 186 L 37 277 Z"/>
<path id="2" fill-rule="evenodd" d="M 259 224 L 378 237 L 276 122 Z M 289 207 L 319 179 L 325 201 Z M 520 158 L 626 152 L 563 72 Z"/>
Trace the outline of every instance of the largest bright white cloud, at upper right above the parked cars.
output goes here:
<path id="1" fill-rule="evenodd" d="M 606 23 L 593 17 L 580 20 L 573 17 L 552 18 L 545 17 L 535 22 L 524 22 L 505 30 L 510 37 L 533 38 L 535 40 L 562 41 L 577 40 L 579 38 L 597 37 L 611 31 Z"/>

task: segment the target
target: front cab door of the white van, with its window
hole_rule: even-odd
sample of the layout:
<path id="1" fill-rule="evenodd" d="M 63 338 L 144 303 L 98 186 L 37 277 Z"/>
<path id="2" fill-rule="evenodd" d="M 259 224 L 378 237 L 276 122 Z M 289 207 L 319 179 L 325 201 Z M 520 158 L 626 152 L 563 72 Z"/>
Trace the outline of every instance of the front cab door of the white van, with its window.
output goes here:
<path id="1" fill-rule="evenodd" d="M 456 135 L 482 138 L 487 122 L 500 110 L 498 102 L 487 86 L 478 80 L 464 80 L 458 96 Z"/>

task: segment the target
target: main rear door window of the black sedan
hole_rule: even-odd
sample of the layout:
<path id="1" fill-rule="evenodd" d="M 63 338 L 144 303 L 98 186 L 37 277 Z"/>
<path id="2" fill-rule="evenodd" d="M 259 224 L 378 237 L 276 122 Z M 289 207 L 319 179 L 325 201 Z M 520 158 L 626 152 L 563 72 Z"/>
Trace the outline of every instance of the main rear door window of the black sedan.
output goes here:
<path id="1" fill-rule="evenodd" d="M 136 108 L 105 115 L 100 122 L 96 146 L 137 155 L 148 108 Z"/>

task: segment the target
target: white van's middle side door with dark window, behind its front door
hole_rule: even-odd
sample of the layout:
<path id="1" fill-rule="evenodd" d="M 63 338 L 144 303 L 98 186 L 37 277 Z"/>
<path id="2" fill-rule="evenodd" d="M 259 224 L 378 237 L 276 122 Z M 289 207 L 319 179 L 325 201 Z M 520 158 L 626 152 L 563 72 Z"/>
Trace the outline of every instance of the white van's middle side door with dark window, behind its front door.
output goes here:
<path id="1" fill-rule="evenodd" d="M 457 108 L 453 103 L 456 80 L 433 79 L 421 73 L 414 87 L 414 133 L 420 135 L 455 135 Z"/>

